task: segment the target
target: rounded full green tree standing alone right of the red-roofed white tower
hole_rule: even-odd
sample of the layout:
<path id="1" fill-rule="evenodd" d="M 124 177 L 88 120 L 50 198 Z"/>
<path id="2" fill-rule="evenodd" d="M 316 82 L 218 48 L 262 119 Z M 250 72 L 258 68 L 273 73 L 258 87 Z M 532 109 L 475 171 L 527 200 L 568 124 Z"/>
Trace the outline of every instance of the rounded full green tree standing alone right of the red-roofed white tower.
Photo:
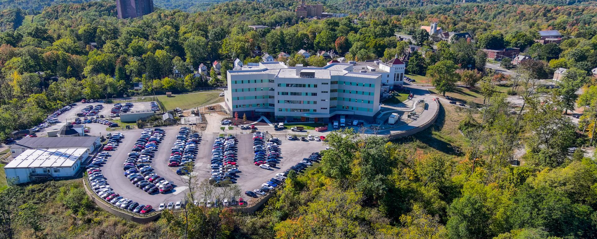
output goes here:
<path id="1" fill-rule="evenodd" d="M 456 73 L 457 66 L 450 60 L 441 60 L 427 68 L 426 76 L 431 79 L 431 84 L 444 96 L 446 91 L 456 88 L 456 82 L 460 78 Z"/>

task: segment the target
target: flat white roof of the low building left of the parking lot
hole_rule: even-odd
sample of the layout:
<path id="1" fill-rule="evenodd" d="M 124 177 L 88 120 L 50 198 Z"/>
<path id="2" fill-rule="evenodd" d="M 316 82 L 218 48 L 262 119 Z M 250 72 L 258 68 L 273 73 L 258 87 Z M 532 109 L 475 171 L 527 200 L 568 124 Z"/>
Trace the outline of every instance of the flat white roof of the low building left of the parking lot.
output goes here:
<path id="1" fill-rule="evenodd" d="M 4 168 L 72 167 L 87 149 L 27 149 Z"/>

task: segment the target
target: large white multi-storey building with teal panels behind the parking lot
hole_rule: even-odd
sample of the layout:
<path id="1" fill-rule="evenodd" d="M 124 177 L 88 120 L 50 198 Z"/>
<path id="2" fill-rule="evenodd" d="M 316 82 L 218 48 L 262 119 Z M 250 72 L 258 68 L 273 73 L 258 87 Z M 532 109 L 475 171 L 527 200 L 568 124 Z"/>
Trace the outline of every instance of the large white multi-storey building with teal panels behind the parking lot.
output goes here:
<path id="1" fill-rule="evenodd" d="M 322 68 L 260 62 L 227 73 L 226 108 L 232 114 L 265 115 L 276 121 L 330 122 L 337 115 L 373 121 L 380 109 L 381 75 L 353 65 Z"/>

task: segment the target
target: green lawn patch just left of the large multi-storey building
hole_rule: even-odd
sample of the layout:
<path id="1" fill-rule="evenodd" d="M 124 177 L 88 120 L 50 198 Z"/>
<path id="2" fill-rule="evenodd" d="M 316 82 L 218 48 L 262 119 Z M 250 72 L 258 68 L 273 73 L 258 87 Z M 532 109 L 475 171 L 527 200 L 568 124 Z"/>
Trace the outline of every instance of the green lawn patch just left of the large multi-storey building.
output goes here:
<path id="1" fill-rule="evenodd" d="M 158 99 L 164 105 L 165 110 L 172 110 L 176 108 L 190 109 L 208 103 L 219 103 L 224 101 L 224 97 L 220 97 L 221 91 L 210 92 L 196 92 L 188 94 L 173 94 L 174 97 L 158 96 Z"/>

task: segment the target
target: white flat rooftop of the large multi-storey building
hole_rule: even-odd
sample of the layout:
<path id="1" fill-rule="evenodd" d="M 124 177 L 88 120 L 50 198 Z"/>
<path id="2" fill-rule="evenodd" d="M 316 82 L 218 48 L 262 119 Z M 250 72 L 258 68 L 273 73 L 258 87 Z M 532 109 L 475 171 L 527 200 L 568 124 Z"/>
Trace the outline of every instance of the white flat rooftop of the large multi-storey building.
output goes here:
<path id="1" fill-rule="evenodd" d="M 380 76 L 376 73 L 353 72 L 352 64 L 347 63 L 331 63 L 330 65 L 324 66 L 322 68 L 306 66 L 303 67 L 303 70 L 301 72 L 312 72 L 315 74 L 314 78 L 328 79 L 331 75 L 349 75 L 364 78 L 377 78 Z M 275 75 L 275 77 L 303 78 L 300 75 L 297 75 L 296 67 L 287 66 L 282 62 L 260 62 L 259 66 L 243 66 L 238 71 L 228 71 L 228 73 L 230 75 L 252 75 L 269 73 Z"/>

